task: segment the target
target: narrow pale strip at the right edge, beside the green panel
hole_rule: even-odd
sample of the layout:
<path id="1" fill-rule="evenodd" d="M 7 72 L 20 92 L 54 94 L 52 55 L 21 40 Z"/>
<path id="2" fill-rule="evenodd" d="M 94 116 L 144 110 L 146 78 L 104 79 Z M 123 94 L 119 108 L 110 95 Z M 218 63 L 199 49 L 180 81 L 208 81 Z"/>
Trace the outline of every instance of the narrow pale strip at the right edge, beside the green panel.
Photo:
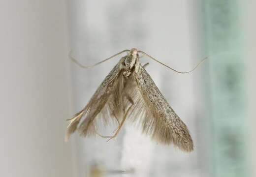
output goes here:
<path id="1" fill-rule="evenodd" d="M 251 137 L 250 137 L 250 158 L 252 164 L 252 177 L 256 177 L 256 1 L 245 0 L 243 19 L 245 25 L 245 39 L 246 39 L 246 55 L 247 55 L 247 95 L 249 104 L 249 114 L 251 123 Z"/>

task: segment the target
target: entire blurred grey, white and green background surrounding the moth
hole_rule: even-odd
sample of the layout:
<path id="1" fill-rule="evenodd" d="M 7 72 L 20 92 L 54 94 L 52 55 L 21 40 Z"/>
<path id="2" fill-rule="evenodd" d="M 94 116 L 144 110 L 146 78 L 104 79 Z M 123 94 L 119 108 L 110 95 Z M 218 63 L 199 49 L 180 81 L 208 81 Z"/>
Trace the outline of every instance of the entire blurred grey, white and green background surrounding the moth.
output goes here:
<path id="1" fill-rule="evenodd" d="M 255 177 L 256 1 L 44 0 L 0 2 L 0 176 Z M 162 147 L 128 122 L 115 142 L 64 142 L 124 49 L 140 59 L 187 124 L 194 151 Z M 110 134 L 114 126 L 102 130 Z"/>

